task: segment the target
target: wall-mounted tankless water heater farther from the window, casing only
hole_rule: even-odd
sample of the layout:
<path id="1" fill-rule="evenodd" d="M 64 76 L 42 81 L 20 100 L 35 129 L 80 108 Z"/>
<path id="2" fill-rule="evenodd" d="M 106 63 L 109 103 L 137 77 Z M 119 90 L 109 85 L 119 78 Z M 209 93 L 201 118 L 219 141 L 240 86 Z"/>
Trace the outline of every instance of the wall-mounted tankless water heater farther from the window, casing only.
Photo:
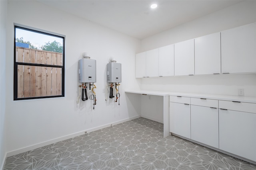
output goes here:
<path id="1" fill-rule="evenodd" d="M 107 64 L 107 82 L 120 83 L 121 82 L 121 63 L 112 61 Z"/>

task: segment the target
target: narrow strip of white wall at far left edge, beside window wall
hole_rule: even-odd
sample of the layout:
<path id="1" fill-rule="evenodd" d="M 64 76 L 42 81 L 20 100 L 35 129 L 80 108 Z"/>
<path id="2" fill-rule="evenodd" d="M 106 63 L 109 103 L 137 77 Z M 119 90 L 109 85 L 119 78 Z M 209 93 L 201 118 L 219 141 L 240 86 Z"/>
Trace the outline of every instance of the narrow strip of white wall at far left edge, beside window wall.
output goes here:
<path id="1" fill-rule="evenodd" d="M 6 112 L 5 112 L 5 64 L 6 64 L 6 18 L 7 1 L 0 1 L 0 169 L 6 153 Z"/>

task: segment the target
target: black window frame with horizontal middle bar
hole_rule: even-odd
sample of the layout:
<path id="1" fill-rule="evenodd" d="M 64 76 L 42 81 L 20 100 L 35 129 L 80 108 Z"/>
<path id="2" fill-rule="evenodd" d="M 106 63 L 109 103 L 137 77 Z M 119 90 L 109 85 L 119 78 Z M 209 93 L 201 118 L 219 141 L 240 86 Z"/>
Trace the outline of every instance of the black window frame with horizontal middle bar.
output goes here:
<path id="1" fill-rule="evenodd" d="M 62 52 L 62 66 L 59 65 L 50 65 L 50 64 L 36 64 L 36 63 L 21 63 L 16 62 L 16 28 L 24 29 L 27 31 L 32 31 L 36 33 L 41 33 L 44 35 L 50 35 L 58 38 L 63 39 L 63 52 Z M 57 33 L 56 33 L 57 34 Z M 39 29 L 31 29 L 24 26 L 14 25 L 14 100 L 31 100 L 31 99 L 42 99 L 42 98 L 59 98 L 65 97 L 65 36 L 56 35 L 54 33 L 49 33 L 49 31 L 39 31 Z M 62 79 L 62 94 L 56 96 L 36 96 L 36 97 L 26 97 L 26 98 L 18 98 L 18 65 L 24 66 L 42 66 L 42 67 L 55 67 L 55 68 L 62 68 L 61 79 Z"/>

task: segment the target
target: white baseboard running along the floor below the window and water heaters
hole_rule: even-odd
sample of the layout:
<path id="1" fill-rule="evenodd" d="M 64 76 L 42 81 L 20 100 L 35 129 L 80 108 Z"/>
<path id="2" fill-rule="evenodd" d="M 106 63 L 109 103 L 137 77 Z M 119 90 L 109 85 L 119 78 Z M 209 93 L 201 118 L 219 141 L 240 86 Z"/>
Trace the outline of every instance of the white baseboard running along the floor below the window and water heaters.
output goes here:
<path id="1" fill-rule="evenodd" d="M 66 140 L 66 139 L 70 139 L 70 138 L 73 138 L 73 137 L 77 137 L 77 136 L 80 136 L 80 135 L 84 135 L 85 132 L 86 133 L 90 133 L 90 132 L 93 132 L 93 131 L 98 131 L 100 129 L 104 129 L 106 127 L 110 127 L 112 125 L 117 125 L 119 123 L 123 123 L 123 122 L 126 122 L 126 121 L 130 121 L 132 119 L 136 119 L 136 118 L 139 118 L 141 117 L 140 115 L 137 115 L 137 116 L 134 116 L 134 117 L 130 117 L 130 118 L 127 118 L 127 119 L 122 119 L 120 121 L 115 121 L 115 122 L 112 122 L 112 123 L 108 123 L 106 125 L 102 125 L 102 126 L 98 126 L 98 127 L 94 127 L 94 128 L 91 128 L 91 129 L 86 129 L 84 131 L 80 131 L 78 133 L 73 133 L 73 134 L 70 134 L 70 135 L 66 135 L 66 136 L 63 136 L 63 137 L 59 137 L 59 138 L 56 138 L 56 139 L 52 139 L 52 140 L 49 140 L 49 141 L 45 141 L 45 142 L 42 142 L 42 143 L 38 143 L 38 144 L 35 144 L 35 145 L 31 145 L 31 146 L 28 146 L 28 147 L 24 147 L 24 148 L 21 148 L 21 149 L 17 149 L 17 150 L 12 150 L 10 152 L 7 152 L 5 154 L 5 157 L 4 157 L 4 161 L 6 160 L 7 157 L 9 156 L 14 156 L 16 154 L 20 154 L 20 153 L 23 153 L 23 152 L 27 152 L 29 150 L 33 150 L 33 149 L 37 149 L 37 148 L 40 148 L 40 147 L 44 147 L 46 145 L 50 145 L 50 144 L 53 144 L 53 143 L 56 143 L 56 142 L 60 142 L 60 141 L 63 141 L 63 140 Z"/>

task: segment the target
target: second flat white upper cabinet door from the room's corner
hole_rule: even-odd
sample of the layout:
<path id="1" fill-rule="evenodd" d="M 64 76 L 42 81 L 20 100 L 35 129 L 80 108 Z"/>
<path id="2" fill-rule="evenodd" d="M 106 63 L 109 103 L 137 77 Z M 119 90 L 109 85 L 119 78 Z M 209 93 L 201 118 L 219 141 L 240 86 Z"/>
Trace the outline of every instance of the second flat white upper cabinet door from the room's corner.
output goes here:
<path id="1" fill-rule="evenodd" d="M 158 76 L 158 49 L 146 51 L 146 77 Z"/>

